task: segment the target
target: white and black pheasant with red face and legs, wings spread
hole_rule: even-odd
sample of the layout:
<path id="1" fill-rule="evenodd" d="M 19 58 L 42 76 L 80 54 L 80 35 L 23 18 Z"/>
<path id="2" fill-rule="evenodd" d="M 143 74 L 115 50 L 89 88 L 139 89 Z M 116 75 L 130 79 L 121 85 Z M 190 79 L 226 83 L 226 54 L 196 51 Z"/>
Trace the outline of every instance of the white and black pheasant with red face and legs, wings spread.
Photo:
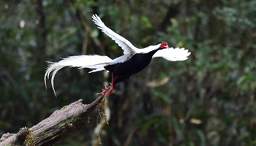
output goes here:
<path id="1" fill-rule="evenodd" d="M 55 96 L 56 91 L 53 86 L 53 80 L 56 73 L 65 66 L 77 67 L 79 69 L 89 68 L 92 69 L 91 72 L 108 70 L 112 75 L 110 86 L 105 90 L 102 89 L 102 92 L 98 94 L 105 95 L 105 93 L 108 93 L 108 96 L 110 96 L 110 93 L 113 91 L 113 85 L 127 80 L 132 74 L 136 74 L 145 69 L 152 58 L 162 57 L 167 61 L 185 61 L 190 55 L 189 51 L 184 48 L 168 47 L 167 42 L 159 42 L 156 45 L 138 49 L 127 39 L 105 26 L 97 15 L 92 15 L 92 20 L 102 32 L 113 39 L 113 41 L 124 50 L 124 55 L 115 59 L 111 59 L 105 55 L 75 55 L 63 58 L 59 62 L 49 62 L 50 65 L 45 72 L 45 87 L 46 78 L 49 79 L 50 72 L 53 72 L 51 85 Z"/>

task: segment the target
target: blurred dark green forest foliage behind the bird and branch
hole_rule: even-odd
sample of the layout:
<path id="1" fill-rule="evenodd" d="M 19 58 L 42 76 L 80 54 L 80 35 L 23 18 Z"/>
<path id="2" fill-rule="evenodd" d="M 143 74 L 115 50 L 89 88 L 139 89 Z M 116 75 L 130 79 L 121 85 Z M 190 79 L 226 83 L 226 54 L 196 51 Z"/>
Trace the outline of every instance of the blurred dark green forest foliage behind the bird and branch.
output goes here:
<path id="1" fill-rule="evenodd" d="M 249 0 L 1 0 L 0 137 L 97 98 L 103 72 L 61 69 L 57 98 L 43 82 L 45 61 L 122 55 L 92 14 L 136 47 L 165 41 L 192 52 L 187 61 L 156 58 L 116 85 L 103 145 L 256 145 L 256 1 Z M 92 145 L 97 111 L 90 117 L 56 145 Z"/>

